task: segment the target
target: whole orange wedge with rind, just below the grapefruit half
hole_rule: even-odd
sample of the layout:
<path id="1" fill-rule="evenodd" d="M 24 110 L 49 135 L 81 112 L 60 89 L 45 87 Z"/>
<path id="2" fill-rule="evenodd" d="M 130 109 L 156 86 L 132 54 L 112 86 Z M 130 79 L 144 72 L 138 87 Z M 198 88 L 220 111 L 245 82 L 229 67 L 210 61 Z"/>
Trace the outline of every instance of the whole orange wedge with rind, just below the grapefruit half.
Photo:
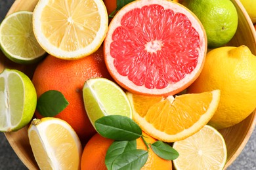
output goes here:
<path id="1" fill-rule="evenodd" d="M 165 142 L 185 139 L 202 129 L 217 110 L 220 95 L 220 90 L 175 98 L 127 93 L 133 120 L 148 135 Z"/>

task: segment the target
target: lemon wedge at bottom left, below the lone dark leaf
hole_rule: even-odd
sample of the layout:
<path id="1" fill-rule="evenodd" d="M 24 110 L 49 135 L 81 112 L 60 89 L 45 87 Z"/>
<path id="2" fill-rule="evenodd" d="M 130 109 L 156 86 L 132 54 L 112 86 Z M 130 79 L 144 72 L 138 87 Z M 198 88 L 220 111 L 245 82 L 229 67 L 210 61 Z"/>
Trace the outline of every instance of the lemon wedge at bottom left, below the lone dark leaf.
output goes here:
<path id="1" fill-rule="evenodd" d="M 28 128 L 28 138 L 40 169 L 80 169 L 81 143 L 64 120 L 34 119 Z"/>

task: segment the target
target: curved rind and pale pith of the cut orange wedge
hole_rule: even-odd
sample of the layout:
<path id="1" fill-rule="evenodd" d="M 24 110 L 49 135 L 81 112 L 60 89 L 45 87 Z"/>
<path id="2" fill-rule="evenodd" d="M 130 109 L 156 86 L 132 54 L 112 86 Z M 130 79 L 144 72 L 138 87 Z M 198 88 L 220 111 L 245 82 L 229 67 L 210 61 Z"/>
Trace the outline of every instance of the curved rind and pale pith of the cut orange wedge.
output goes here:
<path id="1" fill-rule="evenodd" d="M 133 120 L 135 120 L 135 122 L 139 124 L 142 131 L 145 131 L 150 136 L 160 141 L 173 143 L 175 141 L 181 141 L 182 139 L 186 139 L 187 137 L 190 137 L 194 133 L 200 131 L 200 129 L 202 129 L 202 127 L 204 127 L 209 122 L 209 120 L 211 120 L 211 118 L 215 114 L 215 111 L 217 110 L 217 107 L 219 105 L 221 90 L 213 90 L 211 93 L 212 93 L 212 101 L 209 104 L 208 109 L 200 117 L 200 119 L 197 122 L 194 122 L 192 126 L 174 135 L 169 135 L 165 133 L 165 131 L 160 131 L 159 129 L 156 129 L 156 127 L 150 124 L 146 120 L 146 118 L 140 116 L 140 114 L 135 110 L 135 107 L 134 107 L 133 94 L 127 92 L 127 96 L 129 101 L 131 102 L 131 107 L 133 109 Z"/>

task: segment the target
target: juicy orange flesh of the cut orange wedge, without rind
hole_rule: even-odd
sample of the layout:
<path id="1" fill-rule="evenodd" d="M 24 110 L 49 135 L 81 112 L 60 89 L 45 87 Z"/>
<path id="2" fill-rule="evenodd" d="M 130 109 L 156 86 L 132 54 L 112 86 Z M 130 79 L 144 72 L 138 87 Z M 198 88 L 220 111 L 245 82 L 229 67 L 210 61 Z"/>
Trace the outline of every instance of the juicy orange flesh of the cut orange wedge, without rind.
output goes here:
<path id="1" fill-rule="evenodd" d="M 156 129 L 169 135 L 175 135 L 198 122 L 211 101 L 211 92 L 179 95 L 173 102 L 163 97 L 133 94 L 136 112 Z"/>

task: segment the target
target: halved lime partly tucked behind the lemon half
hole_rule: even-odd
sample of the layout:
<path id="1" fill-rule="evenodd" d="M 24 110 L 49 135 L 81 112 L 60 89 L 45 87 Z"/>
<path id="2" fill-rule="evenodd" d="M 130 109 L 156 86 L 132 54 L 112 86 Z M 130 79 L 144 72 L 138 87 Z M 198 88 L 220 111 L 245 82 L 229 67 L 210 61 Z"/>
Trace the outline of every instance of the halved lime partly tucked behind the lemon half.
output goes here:
<path id="1" fill-rule="evenodd" d="M 1 50 L 16 63 L 34 63 L 46 53 L 35 39 L 32 20 L 33 12 L 22 10 L 7 16 L 0 25 Z"/>

